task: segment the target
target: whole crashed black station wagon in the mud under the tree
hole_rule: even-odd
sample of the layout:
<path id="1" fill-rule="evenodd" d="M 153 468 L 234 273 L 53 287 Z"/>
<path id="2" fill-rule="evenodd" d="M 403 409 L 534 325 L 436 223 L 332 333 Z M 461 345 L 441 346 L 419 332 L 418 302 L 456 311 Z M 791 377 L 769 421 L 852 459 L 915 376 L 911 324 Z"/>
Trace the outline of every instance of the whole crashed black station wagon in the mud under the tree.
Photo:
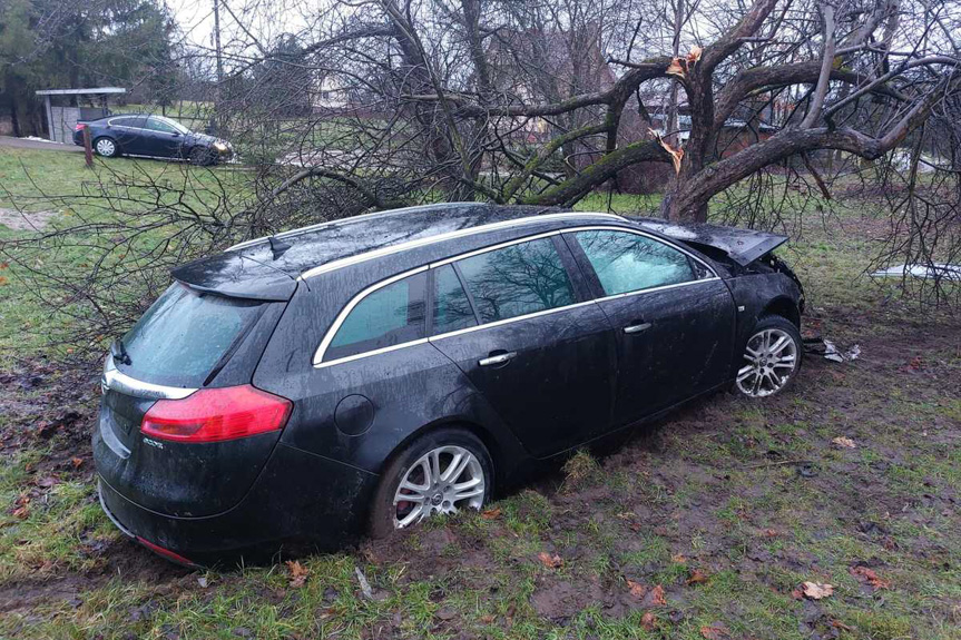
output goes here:
<path id="1" fill-rule="evenodd" d="M 463 204 L 190 263 L 107 357 L 104 509 L 185 563 L 336 548 L 718 387 L 777 393 L 801 365 L 785 239 Z"/>

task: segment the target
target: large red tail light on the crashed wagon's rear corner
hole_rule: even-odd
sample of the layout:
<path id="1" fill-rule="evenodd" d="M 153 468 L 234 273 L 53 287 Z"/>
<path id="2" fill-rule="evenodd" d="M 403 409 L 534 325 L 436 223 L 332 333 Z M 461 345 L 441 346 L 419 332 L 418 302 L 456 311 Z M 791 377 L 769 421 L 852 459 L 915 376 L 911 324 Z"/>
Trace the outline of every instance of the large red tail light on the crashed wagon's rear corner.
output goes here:
<path id="1" fill-rule="evenodd" d="M 284 427 L 290 400 L 245 384 L 202 388 L 183 400 L 159 400 L 144 416 L 144 435 L 175 442 L 222 442 Z"/>

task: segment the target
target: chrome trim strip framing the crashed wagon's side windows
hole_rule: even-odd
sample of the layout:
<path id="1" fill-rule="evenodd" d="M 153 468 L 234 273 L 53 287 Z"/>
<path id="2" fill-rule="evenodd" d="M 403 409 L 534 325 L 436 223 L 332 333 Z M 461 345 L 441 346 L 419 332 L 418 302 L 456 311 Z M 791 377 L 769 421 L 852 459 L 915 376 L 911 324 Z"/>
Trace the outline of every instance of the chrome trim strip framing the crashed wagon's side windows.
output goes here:
<path id="1" fill-rule="evenodd" d="M 569 214 L 556 214 L 556 215 L 569 215 Z M 580 214 L 577 214 L 577 215 L 580 215 Z M 608 215 L 608 214 L 598 214 L 598 215 Z M 547 217 L 547 216 L 538 216 L 538 217 L 535 217 L 535 219 L 537 219 L 537 218 L 546 218 L 546 217 Z M 624 219 L 624 218 L 620 218 L 619 216 L 615 216 L 615 217 L 617 217 L 618 219 Z M 530 219 L 530 218 L 521 218 L 521 219 L 527 220 L 527 219 Z M 517 221 L 517 220 L 511 220 L 511 221 Z M 500 224 L 500 223 L 497 223 L 497 224 Z M 488 225 L 484 225 L 484 226 L 488 226 Z M 477 229 L 481 229 L 482 227 L 475 227 L 475 228 L 477 228 Z M 688 282 L 684 282 L 684 283 L 675 283 L 675 284 L 670 284 L 670 285 L 661 285 L 661 286 L 658 286 L 658 287 L 650 287 L 650 288 L 646 288 L 646 289 L 637 289 L 637 291 L 633 291 L 633 292 L 625 292 L 625 293 L 620 293 L 620 294 L 614 294 L 614 295 L 610 295 L 610 296 L 604 296 L 604 297 L 594 298 L 594 299 L 589 299 L 589 301 L 584 301 L 584 302 L 579 302 L 579 303 L 573 303 L 573 304 L 569 304 L 569 305 L 565 305 L 565 306 L 560 306 L 560 307 L 555 307 L 555 308 L 550 308 L 550 309 L 542 309 L 542 311 L 539 311 L 539 312 L 533 312 L 533 313 L 529 313 L 529 314 L 524 314 L 524 315 L 520 315 L 520 316 L 514 316 L 514 317 L 510 317 L 510 318 L 499 319 L 499 321 L 494 321 L 494 322 L 490 322 L 490 323 L 486 323 L 486 324 L 479 324 L 479 325 L 474 325 L 474 326 L 469 326 L 469 327 L 464 327 L 464 328 L 461 328 L 461 329 L 457 329 L 457 331 L 452 331 L 452 332 L 447 332 L 447 333 L 438 334 L 438 335 L 434 335 L 434 336 L 428 336 L 428 337 L 424 337 L 424 338 L 418 338 L 418 339 L 414 339 L 414 341 L 409 341 L 409 342 L 404 342 L 404 343 L 400 343 L 400 344 L 395 344 L 395 345 L 391 345 L 391 346 L 386 346 L 386 347 L 381 347 L 381 348 L 376 348 L 376 349 L 372 349 L 372 351 L 366 351 L 366 352 L 363 352 L 363 353 L 357 353 L 357 354 L 354 354 L 354 355 L 344 356 L 344 357 L 336 358 L 336 360 L 332 360 L 332 361 L 327 361 L 327 362 L 324 362 L 324 360 L 323 360 L 323 358 L 324 358 L 324 353 L 326 352 L 326 349 L 327 349 L 327 347 L 330 346 L 331 342 L 333 342 L 334 336 L 336 335 L 336 332 L 341 328 L 341 325 L 342 325 L 342 324 L 343 324 L 343 322 L 346 319 L 346 317 L 347 317 L 347 315 L 351 313 L 351 311 L 353 311 L 353 308 L 354 308 L 357 304 L 360 304 L 360 302 L 361 302 L 363 298 L 365 298 L 367 295 L 372 294 L 373 292 L 375 292 L 375 291 L 380 289 L 381 287 L 385 287 L 385 286 L 391 285 L 391 284 L 393 284 L 393 283 L 395 283 L 395 282 L 398 282 L 398 280 L 401 280 L 401 279 L 403 279 L 403 278 L 405 278 L 405 277 L 408 277 L 408 276 L 412 276 L 412 275 L 419 274 L 419 273 L 424 272 L 424 270 L 428 270 L 428 269 L 433 269 L 433 268 L 437 268 L 437 267 L 441 267 L 441 266 L 443 266 L 443 265 L 448 265 L 448 264 L 451 264 L 451 263 L 455 263 L 455 262 L 458 262 L 458 260 L 462 260 L 462 259 L 465 259 L 465 258 L 470 258 L 470 257 L 473 257 L 473 256 L 477 256 L 477 255 L 480 255 L 480 254 L 486 254 L 486 253 L 488 253 L 488 252 L 494 252 L 494 250 L 497 250 L 497 249 L 501 249 L 501 248 L 503 248 L 503 247 L 509 247 L 509 246 L 511 246 L 511 245 L 519 245 L 519 244 L 522 244 L 522 243 L 527 243 L 527 242 L 531 242 L 531 240 L 537 240 L 537 239 L 541 239 L 541 238 L 548 238 L 548 237 L 556 236 L 556 235 L 560 235 L 560 234 L 568 234 L 568 233 L 576 233 L 576 232 L 589 232 L 589 230 L 614 230 L 614 232 L 627 232 L 627 233 L 630 233 L 630 234 L 635 234 L 635 235 L 638 235 L 638 236 L 644 236 L 644 237 L 646 237 L 646 238 L 650 238 L 650 239 L 653 239 L 653 240 L 655 240 L 655 242 L 658 242 L 658 243 L 661 243 L 661 244 L 664 244 L 664 245 L 667 245 L 667 246 L 669 246 L 669 247 L 671 247 L 671 248 L 675 248 L 675 249 L 677 249 L 678 252 L 680 252 L 680 253 L 685 254 L 686 256 L 689 256 L 690 258 L 693 258 L 693 259 L 697 260 L 698 263 L 703 264 L 703 265 L 708 269 L 708 272 L 710 272 L 712 274 L 714 274 L 714 276 L 713 276 L 713 277 L 707 277 L 707 278 L 700 278 L 700 279 L 688 280 Z M 331 263 L 331 264 L 333 264 L 333 263 Z M 303 277 L 303 276 L 302 276 L 302 277 Z M 605 302 L 605 301 L 617 299 L 617 298 L 624 298 L 624 297 L 631 297 L 631 296 L 638 296 L 638 295 L 650 294 L 650 293 L 657 293 L 657 292 L 668 291 L 668 289 L 673 289 L 673 288 L 679 288 L 679 287 L 686 287 L 686 286 L 692 286 L 692 285 L 698 285 L 698 284 L 702 284 L 702 283 L 716 282 L 716 280 L 719 280 L 719 279 L 720 279 L 720 277 L 718 277 L 718 276 L 717 276 L 717 272 L 715 272 L 715 270 L 714 270 L 714 268 L 713 268 L 710 265 L 708 265 L 707 263 L 705 263 L 703 259 L 700 259 L 700 258 L 699 258 L 699 257 L 697 257 L 696 255 L 692 254 L 692 253 L 690 253 L 690 252 L 688 252 L 688 250 L 685 250 L 685 249 L 684 249 L 684 248 L 681 248 L 681 247 L 676 246 L 674 243 L 665 242 L 663 238 L 659 238 L 659 237 L 657 237 L 657 236 L 654 236 L 654 235 L 651 235 L 651 234 L 649 234 L 649 233 L 646 233 L 646 232 L 644 232 L 644 230 L 640 230 L 640 229 L 633 229 L 633 228 L 628 228 L 628 227 L 619 227 L 619 226 L 612 226 L 612 225 L 608 225 L 608 226 L 605 226 L 605 225 L 588 225 L 588 226 L 581 226 L 581 227 L 571 227 L 571 228 L 565 228 L 565 229 L 555 229 L 555 230 L 551 230 L 551 232 L 545 232 L 545 233 L 536 234 L 536 235 L 532 235 L 532 236 L 524 236 L 524 237 L 522 237 L 522 238 L 514 238 L 514 239 L 512 239 L 512 240 L 507 240 L 507 242 L 503 242 L 503 243 L 498 243 L 498 244 L 496 244 L 496 245 L 491 245 L 491 246 L 489 246 L 489 247 L 482 247 L 482 248 L 480 248 L 480 249 L 473 249 L 473 250 L 470 250 L 470 252 L 465 252 L 465 253 L 462 253 L 462 254 L 458 254 L 458 255 L 455 255 L 455 256 L 452 256 L 452 257 L 449 257 L 449 258 L 444 258 L 444 259 L 442 259 L 442 260 L 437 260 L 437 262 L 430 263 L 430 264 L 428 264 L 428 265 L 421 265 L 421 266 L 419 266 L 419 267 L 416 267 L 416 268 L 409 269 L 409 270 L 406 270 L 406 272 L 402 272 L 402 273 L 396 274 L 396 275 L 393 275 L 393 276 L 391 276 L 391 277 L 389 277 L 389 278 L 386 278 L 386 279 L 383 279 L 383 280 L 381 280 L 381 282 L 379 282 L 379 283 L 374 283 L 373 285 L 370 285 L 369 287 L 364 288 L 361 293 L 356 294 L 353 298 L 351 298 L 351 301 L 347 303 L 347 305 L 346 305 L 346 306 L 341 311 L 341 313 L 340 313 L 340 314 L 337 314 L 337 317 L 334 319 L 334 323 L 331 325 L 331 328 L 327 331 L 327 333 L 326 333 L 326 334 L 324 334 L 324 338 L 323 338 L 323 341 L 321 341 L 321 345 L 320 345 L 320 346 L 317 347 L 317 349 L 314 352 L 313 365 L 314 365 L 314 367 L 315 367 L 315 368 L 325 368 L 325 367 L 328 367 L 328 366 L 333 366 L 333 365 L 335 365 L 335 364 L 343 364 L 343 363 L 347 363 L 347 362 L 353 362 L 353 361 L 361 360 L 361 358 L 364 358 L 364 357 L 369 357 L 369 356 L 373 356 L 373 355 L 380 355 L 380 354 L 383 354 L 383 353 L 389 353 L 389 352 L 392 352 L 392 351 L 398 351 L 398 349 L 401 349 L 401 348 L 405 348 L 405 347 L 409 347 L 409 346 L 416 346 L 416 345 L 421 345 L 421 344 L 424 344 L 424 343 L 432 343 L 432 342 L 435 342 L 435 341 L 439 341 L 439 339 L 444 339 L 444 338 L 448 338 L 448 337 L 453 337 L 453 336 L 458 336 L 458 335 L 463 335 L 463 334 L 471 333 L 471 332 L 475 332 L 475 331 L 480 331 L 480 329 L 483 329 L 483 328 L 491 328 L 491 327 L 502 326 L 502 325 L 510 324 L 510 323 L 514 323 L 514 322 L 520 322 L 520 321 L 524 321 L 524 319 L 529 319 L 529 318 L 533 318 L 533 317 L 545 316 L 545 315 L 549 315 L 549 314 L 553 314 L 553 313 L 558 313 L 558 312 L 562 312 L 562 311 L 571 309 L 571 308 L 577 308 L 577 307 L 581 307 L 581 306 L 587 306 L 587 305 L 590 305 L 590 304 L 598 304 L 598 303 L 601 303 L 601 302 Z M 426 313 L 431 313 L 431 312 L 430 312 L 429 309 L 426 309 Z"/>

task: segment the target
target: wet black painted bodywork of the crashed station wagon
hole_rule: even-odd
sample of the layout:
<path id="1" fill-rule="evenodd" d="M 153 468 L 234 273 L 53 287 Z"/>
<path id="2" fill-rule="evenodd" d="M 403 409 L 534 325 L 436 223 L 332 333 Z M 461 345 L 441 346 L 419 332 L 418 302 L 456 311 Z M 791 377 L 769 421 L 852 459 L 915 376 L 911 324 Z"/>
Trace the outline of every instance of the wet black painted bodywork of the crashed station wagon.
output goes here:
<path id="1" fill-rule="evenodd" d="M 288 248 L 280 253 L 259 243 L 175 269 L 175 278 L 187 286 L 267 305 L 206 386 L 252 382 L 290 398 L 294 408 L 282 432 L 204 445 L 164 442 L 160 449 L 145 444 L 148 439 L 138 431 L 151 402 L 108 390 L 101 430 L 94 436 L 105 508 L 127 531 L 203 562 L 225 552 L 274 549 L 278 542 L 339 548 L 363 532 L 385 462 L 426 430 L 469 426 L 496 461 L 494 485 L 507 486 L 539 461 L 729 384 L 735 354 L 756 318 L 772 308 L 800 314 L 802 292 L 787 273 L 698 254 L 722 279 L 648 294 L 640 303 L 637 297 L 608 299 L 335 366 L 313 365 L 336 315 L 365 287 L 449 256 L 596 225 L 598 218 L 545 218 L 314 277 L 298 279 L 301 273 L 425 237 L 438 227 L 453 230 L 541 211 L 425 207 L 288 236 L 283 240 Z M 602 224 L 637 228 L 612 219 Z M 552 237 L 562 249 L 570 245 L 565 236 Z M 582 256 L 576 247 L 568 252 L 577 302 L 599 297 Z M 639 319 L 656 328 L 640 336 L 620 331 Z M 503 368 L 477 365 L 496 349 L 519 356 Z M 131 451 L 121 460 L 101 435 L 117 421 L 126 422 L 120 437 Z"/>

